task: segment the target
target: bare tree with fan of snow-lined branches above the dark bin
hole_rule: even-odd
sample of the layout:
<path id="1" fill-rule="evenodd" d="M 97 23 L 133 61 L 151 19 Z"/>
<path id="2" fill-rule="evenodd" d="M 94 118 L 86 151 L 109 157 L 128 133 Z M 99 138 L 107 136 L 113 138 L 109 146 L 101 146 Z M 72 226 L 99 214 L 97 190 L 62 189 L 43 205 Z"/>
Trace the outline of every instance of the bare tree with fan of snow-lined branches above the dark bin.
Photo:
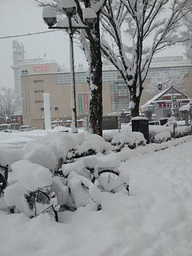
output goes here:
<path id="1" fill-rule="evenodd" d="M 107 0 L 102 10 L 102 53 L 130 91 L 132 117 L 139 115 L 143 82 L 155 53 L 186 41 L 179 31 L 191 0 Z M 106 39 L 107 38 L 107 39 Z"/>

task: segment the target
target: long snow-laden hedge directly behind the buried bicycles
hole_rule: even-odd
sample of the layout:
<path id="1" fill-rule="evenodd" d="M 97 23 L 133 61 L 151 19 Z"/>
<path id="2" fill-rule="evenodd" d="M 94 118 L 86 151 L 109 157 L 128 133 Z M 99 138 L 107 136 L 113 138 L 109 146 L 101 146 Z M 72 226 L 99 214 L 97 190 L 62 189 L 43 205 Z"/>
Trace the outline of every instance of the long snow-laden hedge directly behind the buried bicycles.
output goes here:
<path id="1" fill-rule="evenodd" d="M 57 168 L 60 158 L 83 157 L 85 155 L 103 153 L 109 150 L 110 143 L 96 134 L 63 134 L 49 133 L 41 139 L 34 139 L 22 149 L 6 149 L 0 147 L 0 165 L 6 166 L 27 159 L 51 170 Z"/>

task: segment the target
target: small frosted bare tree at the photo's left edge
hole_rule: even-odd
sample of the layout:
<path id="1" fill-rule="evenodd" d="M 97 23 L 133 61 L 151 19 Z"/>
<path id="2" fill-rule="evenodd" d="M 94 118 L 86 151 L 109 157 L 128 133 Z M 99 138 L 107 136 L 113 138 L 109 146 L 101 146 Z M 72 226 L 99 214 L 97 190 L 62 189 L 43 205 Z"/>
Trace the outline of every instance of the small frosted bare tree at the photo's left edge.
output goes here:
<path id="1" fill-rule="evenodd" d="M 14 114 L 18 106 L 18 97 L 12 88 L 1 87 L 0 89 L 0 117 L 6 123 L 6 117 Z"/>

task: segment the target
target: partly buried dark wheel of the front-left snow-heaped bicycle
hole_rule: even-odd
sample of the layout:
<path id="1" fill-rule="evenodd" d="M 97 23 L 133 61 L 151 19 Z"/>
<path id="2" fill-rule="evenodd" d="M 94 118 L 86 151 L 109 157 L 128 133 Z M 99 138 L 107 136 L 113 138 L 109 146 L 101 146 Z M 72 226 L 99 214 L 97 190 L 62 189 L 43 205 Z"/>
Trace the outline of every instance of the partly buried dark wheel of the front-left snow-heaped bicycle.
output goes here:
<path id="1" fill-rule="evenodd" d="M 55 211 L 53 205 L 51 205 L 49 195 L 42 191 L 38 191 L 37 202 L 35 203 L 34 217 L 37 217 L 42 213 L 49 213 L 51 217 L 53 217 L 55 221 L 58 222 L 58 213 Z"/>

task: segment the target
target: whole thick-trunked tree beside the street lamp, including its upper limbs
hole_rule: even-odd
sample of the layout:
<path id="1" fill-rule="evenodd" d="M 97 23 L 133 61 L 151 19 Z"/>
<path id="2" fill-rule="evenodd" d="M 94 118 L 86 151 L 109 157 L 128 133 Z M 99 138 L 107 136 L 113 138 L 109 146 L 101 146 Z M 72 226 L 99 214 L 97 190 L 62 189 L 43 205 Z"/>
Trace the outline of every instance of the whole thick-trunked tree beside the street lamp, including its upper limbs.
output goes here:
<path id="1" fill-rule="evenodd" d="M 62 13 L 59 7 L 59 0 L 34 0 L 38 6 L 53 6 L 59 14 Z M 97 21 L 93 26 L 87 29 L 79 30 L 79 39 L 82 43 L 82 49 L 85 52 L 87 62 L 89 64 L 89 72 L 87 72 L 87 82 L 90 87 L 90 109 L 89 124 L 90 133 L 102 136 L 102 59 L 100 47 L 100 29 L 99 15 L 107 0 L 75 0 L 77 3 L 78 23 L 83 23 L 83 8 L 91 8 L 97 14 Z"/>

